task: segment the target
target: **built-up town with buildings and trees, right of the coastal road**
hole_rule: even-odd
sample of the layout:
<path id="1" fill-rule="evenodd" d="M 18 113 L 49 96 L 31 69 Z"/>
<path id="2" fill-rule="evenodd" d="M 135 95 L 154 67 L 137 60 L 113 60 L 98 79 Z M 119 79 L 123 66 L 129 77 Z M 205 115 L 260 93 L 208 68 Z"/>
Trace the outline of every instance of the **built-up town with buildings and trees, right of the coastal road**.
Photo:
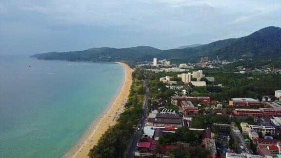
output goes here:
<path id="1" fill-rule="evenodd" d="M 201 63 L 205 61 L 201 58 Z M 229 63 L 218 57 L 211 62 Z M 203 65 L 208 64 L 177 66 L 154 58 L 137 66 L 136 73 L 145 76 L 150 94 L 135 157 L 280 158 L 281 90 L 275 89 L 274 95 L 221 97 L 219 93 L 231 83 L 215 82 L 220 77 L 204 74 Z"/>

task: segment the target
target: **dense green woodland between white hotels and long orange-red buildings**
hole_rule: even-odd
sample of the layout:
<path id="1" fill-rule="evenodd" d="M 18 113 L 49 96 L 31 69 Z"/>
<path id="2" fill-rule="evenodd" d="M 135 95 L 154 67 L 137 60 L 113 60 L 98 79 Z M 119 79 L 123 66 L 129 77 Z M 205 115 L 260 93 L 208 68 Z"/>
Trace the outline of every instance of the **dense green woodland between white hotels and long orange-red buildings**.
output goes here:
<path id="1" fill-rule="evenodd" d="M 206 76 L 214 77 L 215 82 L 204 87 L 192 87 L 192 96 L 208 96 L 219 101 L 231 98 L 262 99 L 263 95 L 274 96 L 274 91 L 281 89 L 280 74 L 239 74 L 225 71 L 204 73 Z M 217 86 L 218 84 L 222 84 L 223 87 Z"/>

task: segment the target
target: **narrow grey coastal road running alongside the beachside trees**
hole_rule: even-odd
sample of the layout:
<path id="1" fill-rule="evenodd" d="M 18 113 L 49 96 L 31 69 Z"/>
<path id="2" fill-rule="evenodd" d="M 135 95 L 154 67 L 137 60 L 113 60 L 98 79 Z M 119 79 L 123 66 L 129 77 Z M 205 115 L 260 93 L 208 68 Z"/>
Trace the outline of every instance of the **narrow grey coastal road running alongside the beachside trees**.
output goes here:
<path id="1" fill-rule="evenodd" d="M 145 120 L 147 118 L 147 103 L 148 103 L 148 98 L 149 98 L 149 90 L 146 86 L 146 82 L 145 80 L 143 80 L 143 86 L 145 87 L 145 99 L 143 102 L 143 119 L 141 120 L 141 126 L 139 127 L 138 124 L 138 128 L 140 128 L 140 130 L 136 131 L 133 141 L 130 144 L 130 149 L 128 151 L 128 154 L 125 156 L 125 158 L 134 158 L 134 154 L 135 154 L 135 150 L 137 148 L 137 143 L 139 142 L 140 138 L 141 138 L 141 130 L 143 129 Z"/>

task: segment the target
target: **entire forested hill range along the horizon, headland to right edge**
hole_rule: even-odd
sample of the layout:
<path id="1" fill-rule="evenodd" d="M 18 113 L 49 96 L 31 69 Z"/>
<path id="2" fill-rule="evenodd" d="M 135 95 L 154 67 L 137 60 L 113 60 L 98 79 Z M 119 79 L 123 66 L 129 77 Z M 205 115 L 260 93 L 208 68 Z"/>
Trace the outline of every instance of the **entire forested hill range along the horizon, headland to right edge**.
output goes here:
<path id="1" fill-rule="evenodd" d="M 265 27 L 238 39 L 218 40 L 193 48 L 160 50 L 149 46 L 132 48 L 91 48 L 74 52 L 50 52 L 31 57 L 71 61 L 151 61 L 153 57 L 172 62 L 198 62 L 201 57 L 215 59 L 280 59 L 281 28 Z"/>

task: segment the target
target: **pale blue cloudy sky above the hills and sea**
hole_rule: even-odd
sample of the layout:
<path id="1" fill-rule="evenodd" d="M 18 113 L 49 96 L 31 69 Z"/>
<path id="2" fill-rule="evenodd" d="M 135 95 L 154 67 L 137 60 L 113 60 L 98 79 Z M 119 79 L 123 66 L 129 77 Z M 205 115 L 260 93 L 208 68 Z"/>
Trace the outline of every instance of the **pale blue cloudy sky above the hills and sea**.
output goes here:
<path id="1" fill-rule="evenodd" d="M 0 0 L 0 54 L 172 49 L 281 27 L 281 0 Z"/>

